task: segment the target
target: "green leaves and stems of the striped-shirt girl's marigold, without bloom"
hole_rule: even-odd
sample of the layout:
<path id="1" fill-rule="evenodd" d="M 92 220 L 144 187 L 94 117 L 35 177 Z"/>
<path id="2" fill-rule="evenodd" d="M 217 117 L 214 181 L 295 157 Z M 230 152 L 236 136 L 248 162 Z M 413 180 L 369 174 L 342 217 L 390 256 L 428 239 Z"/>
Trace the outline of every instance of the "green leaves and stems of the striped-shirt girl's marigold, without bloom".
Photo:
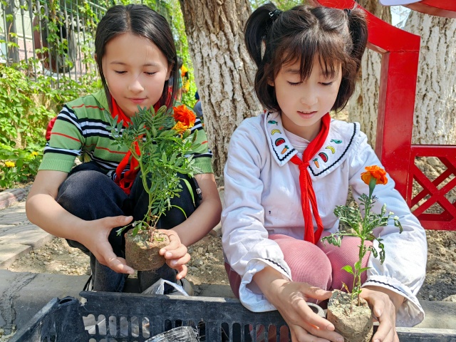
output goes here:
<path id="1" fill-rule="evenodd" d="M 110 128 L 111 135 L 117 145 L 128 146 L 133 157 L 138 160 L 142 185 L 149 195 L 144 219 L 135 222 L 135 235 L 139 229 L 155 227 L 161 215 L 172 207 L 170 199 L 178 197 L 182 191 L 178 173 L 192 177 L 197 172 L 192 157 L 187 157 L 197 147 L 197 131 L 190 135 L 190 129 L 187 129 L 182 135 L 179 134 L 172 110 L 167 111 L 165 106 L 157 110 L 157 113 L 153 108 L 140 108 L 124 129 L 123 122 L 116 123 L 117 118 Z M 119 229 L 118 233 L 125 228 Z"/>

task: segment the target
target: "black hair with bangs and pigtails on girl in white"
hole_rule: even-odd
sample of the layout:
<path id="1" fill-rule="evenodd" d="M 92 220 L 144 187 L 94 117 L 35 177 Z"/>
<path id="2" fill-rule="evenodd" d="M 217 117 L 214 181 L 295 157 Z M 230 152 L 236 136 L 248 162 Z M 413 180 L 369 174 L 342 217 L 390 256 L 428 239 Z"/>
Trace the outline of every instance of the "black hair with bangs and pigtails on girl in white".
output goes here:
<path id="1" fill-rule="evenodd" d="M 330 77 L 341 66 L 341 86 L 331 110 L 341 110 L 353 95 L 368 37 L 362 9 L 299 5 L 281 12 L 274 4 L 264 4 L 249 17 L 244 34 L 247 51 L 258 67 L 255 92 L 267 110 L 280 109 L 269 83 L 281 67 L 299 61 L 301 79 L 306 80 L 316 56 Z"/>

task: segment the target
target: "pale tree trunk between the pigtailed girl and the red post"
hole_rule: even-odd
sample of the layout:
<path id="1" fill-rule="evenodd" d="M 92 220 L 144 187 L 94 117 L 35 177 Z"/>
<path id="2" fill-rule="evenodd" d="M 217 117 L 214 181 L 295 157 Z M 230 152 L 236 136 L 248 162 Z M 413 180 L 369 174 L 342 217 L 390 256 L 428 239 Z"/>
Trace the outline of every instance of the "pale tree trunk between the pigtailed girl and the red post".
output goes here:
<path id="1" fill-rule="evenodd" d="M 359 0 L 358 4 L 374 16 L 391 23 L 390 8 L 382 6 L 378 0 Z M 368 136 L 372 147 L 375 147 L 377 130 L 380 63 L 380 53 L 366 49 L 361 61 L 361 71 L 355 93 L 348 102 L 348 120 L 361 124 L 361 130 Z"/>

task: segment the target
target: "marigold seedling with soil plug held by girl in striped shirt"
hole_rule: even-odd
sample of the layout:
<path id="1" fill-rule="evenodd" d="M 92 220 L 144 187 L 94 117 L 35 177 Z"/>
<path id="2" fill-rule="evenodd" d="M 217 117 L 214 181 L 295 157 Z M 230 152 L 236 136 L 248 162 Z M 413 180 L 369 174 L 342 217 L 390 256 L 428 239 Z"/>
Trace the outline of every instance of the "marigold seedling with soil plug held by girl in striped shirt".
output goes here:
<path id="1" fill-rule="evenodd" d="M 139 177 L 149 197 L 145 217 L 133 222 L 133 228 L 125 234 L 125 260 L 133 269 L 150 271 L 165 263 L 158 251 L 169 240 L 157 230 L 157 222 L 171 209 L 170 199 L 182 191 L 181 179 L 193 194 L 190 183 L 181 177 L 192 177 L 197 171 L 189 155 L 199 144 L 197 130 L 190 134 L 195 113 L 185 105 L 172 110 L 162 106 L 156 113 L 153 108 L 138 109 L 129 125 L 123 128 L 123 122 L 117 123 L 115 118 L 117 124 L 110 130 L 116 144 L 128 146 L 132 157 L 138 160 Z M 131 226 L 118 229 L 118 234 L 127 227 Z"/>

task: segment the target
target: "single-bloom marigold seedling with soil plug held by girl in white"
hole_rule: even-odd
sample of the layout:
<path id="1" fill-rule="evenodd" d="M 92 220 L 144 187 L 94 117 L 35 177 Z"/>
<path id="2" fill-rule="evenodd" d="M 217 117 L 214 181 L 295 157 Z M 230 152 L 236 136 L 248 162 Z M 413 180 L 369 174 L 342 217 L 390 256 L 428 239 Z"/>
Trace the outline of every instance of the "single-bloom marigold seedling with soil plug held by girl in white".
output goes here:
<path id="1" fill-rule="evenodd" d="M 343 237 L 358 237 L 361 239 L 359 245 L 359 258 L 356 264 L 343 266 L 343 270 L 353 275 L 352 291 L 348 286 L 343 284 L 346 292 L 334 290 L 328 302 L 328 321 L 331 321 L 346 342 L 367 342 L 371 341 L 373 334 L 373 316 L 368 303 L 361 298 L 361 274 L 368 270 L 368 267 L 362 267 L 361 262 L 367 252 L 371 252 L 373 257 L 380 257 L 380 263 L 385 261 L 385 246 L 380 237 L 375 237 L 373 229 L 388 225 L 390 219 L 393 220 L 395 227 L 402 232 L 402 226 L 399 219 L 393 216 L 393 212 L 386 214 L 386 204 L 383 204 L 380 214 L 372 212 L 373 204 L 377 197 L 373 195 L 375 185 L 385 185 L 388 182 L 386 172 L 382 168 L 374 165 L 366 167 L 366 172 L 361 174 L 361 179 L 369 186 L 369 195 L 362 194 L 359 197 L 360 206 L 352 207 L 348 205 L 338 205 L 334 209 L 334 214 L 340 219 L 339 231 L 323 237 L 323 242 L 328 242 L 334 246 L 340 247 Z M 364 215 L 361 214 L 361 208 L 364 208 Z M 376 240 L 378 250 L 373 246 L 366 246 L 364 242 Z"/>

